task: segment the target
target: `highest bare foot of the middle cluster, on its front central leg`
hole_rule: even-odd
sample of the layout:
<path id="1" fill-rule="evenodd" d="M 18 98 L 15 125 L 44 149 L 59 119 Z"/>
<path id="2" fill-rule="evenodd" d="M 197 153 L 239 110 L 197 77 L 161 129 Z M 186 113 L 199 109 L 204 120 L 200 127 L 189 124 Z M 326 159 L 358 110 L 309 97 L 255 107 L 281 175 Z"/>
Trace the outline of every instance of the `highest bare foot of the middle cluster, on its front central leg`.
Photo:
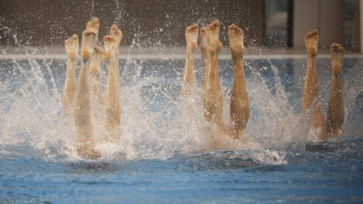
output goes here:
<path id="1" fill-rule="evenodd" d="M 222 48 L 222 43 L 219 41 L 219 26 L 218 20 L 207 25 L 206 35 L 208 40 L 208 48 L 212 53 L 217 53 Z"/>

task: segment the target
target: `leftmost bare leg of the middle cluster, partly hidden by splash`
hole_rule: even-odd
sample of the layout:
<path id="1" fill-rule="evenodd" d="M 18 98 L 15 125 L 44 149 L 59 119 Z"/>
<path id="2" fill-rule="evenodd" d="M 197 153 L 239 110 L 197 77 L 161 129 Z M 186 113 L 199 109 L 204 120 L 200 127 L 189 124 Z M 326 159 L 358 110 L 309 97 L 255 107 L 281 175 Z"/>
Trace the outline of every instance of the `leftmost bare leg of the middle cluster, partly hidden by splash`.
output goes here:
<path id="1" fill-rule="evenodd" d="M 197 86 L 197 77 L 194 70 L 194 55 L 198 40 L 198 25 L 195 23 L 185 29 L 185 37 L 187 40 L 187 56 L 185 59 L 183 86 L 181 87 L 181 95 L 189 94 L 189 89 Z"/>

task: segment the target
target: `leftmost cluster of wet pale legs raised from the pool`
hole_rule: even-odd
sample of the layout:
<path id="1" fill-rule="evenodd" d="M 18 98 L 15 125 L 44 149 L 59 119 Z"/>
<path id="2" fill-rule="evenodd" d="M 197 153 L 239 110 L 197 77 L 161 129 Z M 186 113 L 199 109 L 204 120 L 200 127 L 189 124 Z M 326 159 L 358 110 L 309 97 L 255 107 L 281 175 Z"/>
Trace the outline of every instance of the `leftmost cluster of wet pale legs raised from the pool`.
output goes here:
<path id="1" fill-rule="evenodd" d="M 99 21 L 97 18 L 86 24 L 86 30 L 82 34 L 81 70 L 79 72 L 78 87 L 75 81 L 75 69 L 78 54 L 78 36 L 73 35 L 65 41 L 68 55 L 67 74 L 63 91 L 64 115 L 69 115 L 69 110 L 74 108 L 74 121 L 76 122 L 76 146 L 77 152 L 83 158 L 95 159 L 101 155 L 95 151 L 93 124 L 91 121 L 91 91 L 100 103 L 103 102 L 102 86 L 99 74 L 99 65 L 102 58 L 105 59 L 109 71 L 106 98 L 105 127 L 107 135 L 105 140 L 115 139 L 117 129 L 121 122 L 121 104 L 119 102 L 119 65 L 118 46 L 122 39 L 122 32 L 113 25 L 110 35 L 103 38 L 105 53 L 98 46 Z M 90 76 L 91 74 L 91 76 Z M 90 86 L 90 78 L 96 80 Z"/>

